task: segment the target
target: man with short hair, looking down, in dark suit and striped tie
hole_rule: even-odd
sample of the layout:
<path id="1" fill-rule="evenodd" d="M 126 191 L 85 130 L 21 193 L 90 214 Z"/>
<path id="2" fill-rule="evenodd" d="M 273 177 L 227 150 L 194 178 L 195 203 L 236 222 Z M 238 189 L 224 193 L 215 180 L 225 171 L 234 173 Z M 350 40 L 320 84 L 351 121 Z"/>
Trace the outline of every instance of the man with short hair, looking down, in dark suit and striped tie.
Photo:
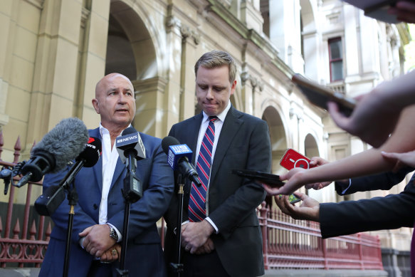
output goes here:
<path id="1" fill-rule="evenodd" d="M 266 193 L 232 169 L 270 171 L 265 121 L 233 108 L 236 66 L 223 51 L 205 53 L 195 65 L 196 98 L 202 113 L 179 122 L 169 135 L 194 152 L 202 186 L 184 185 L 182 247 L 184 276 L 260 276 L 264 273 L 256 207 Z M 174 261 L 175 195 L 165 219 L 167 261 Z"/>

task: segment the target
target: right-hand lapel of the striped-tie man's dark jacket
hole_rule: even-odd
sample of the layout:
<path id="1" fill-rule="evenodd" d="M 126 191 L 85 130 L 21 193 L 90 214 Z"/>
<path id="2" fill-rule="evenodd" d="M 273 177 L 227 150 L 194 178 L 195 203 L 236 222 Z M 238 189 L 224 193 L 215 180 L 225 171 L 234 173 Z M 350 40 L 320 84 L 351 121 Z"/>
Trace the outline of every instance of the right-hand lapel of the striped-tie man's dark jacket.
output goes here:
<path id="1" fill-rule="evenodd" d="M 225 117 L 224 125 L 222 126 L 221 135 L 219 136 L 218 145 L 216 146 L 215 157 L 211 169 L 211 180 L 214 180 L 216 173 L 219 170 L 222 160 L 224 160 L 226 150 L 231 146 L 233 137 L 243 124 L 243 120 L 239 120 L 240 114 L 237 110 L 231 109 Z M 211 182 L 212 184 L 212 182 Z"/>

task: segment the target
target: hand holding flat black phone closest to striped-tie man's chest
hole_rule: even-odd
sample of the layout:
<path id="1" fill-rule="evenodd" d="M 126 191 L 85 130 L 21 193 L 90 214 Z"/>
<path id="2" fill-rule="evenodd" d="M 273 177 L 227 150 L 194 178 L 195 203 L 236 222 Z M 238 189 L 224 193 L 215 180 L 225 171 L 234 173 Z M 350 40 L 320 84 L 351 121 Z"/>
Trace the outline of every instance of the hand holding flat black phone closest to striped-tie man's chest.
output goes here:
<path id="1" fill-rule="evenodd" d="M 303 179 L 303 174 L 307 170 L 310 169 L 295 167 L 287 173 L 280 175 L 281 181 L 288 179 L 288 182 L 285 182 L 283 187 L 270 187 L 268 184 L 263 184 L 262 186 L 269 195 L 292 194 L 300 187 L 303 187 L 304 182 L 301 182 L 301 180 Z"/>

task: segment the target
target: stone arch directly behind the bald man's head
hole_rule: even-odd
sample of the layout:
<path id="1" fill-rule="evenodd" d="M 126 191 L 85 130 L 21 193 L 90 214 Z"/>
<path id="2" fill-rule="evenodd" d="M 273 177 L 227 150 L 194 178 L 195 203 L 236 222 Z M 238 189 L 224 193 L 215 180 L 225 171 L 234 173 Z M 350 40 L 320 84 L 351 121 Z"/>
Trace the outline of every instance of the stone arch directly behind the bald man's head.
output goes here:
<path id="1" fill-rule="evenodd" d="M 155 137 L 165 135 L 162 122 L 164 90 L 162 77 L 165 41 L 144 4 L 130 0 L 111 0 L 108 28 L 107 73 L 117 70 L 132 80 L 137 112 L 132 125 Z M 120 62 L 117 62 L 120 58 Z"/>

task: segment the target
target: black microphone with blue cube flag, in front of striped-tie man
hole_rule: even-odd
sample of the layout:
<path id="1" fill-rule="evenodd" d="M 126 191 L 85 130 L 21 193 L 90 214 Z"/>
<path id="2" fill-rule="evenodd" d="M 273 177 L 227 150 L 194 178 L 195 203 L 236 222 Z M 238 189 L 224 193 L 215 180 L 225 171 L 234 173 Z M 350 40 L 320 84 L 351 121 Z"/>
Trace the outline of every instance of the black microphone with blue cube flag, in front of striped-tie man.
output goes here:
<path id="1" fill-rule="evenodd" d="M 164 137 L 162 140 L 162 148 L 167 155 L 167 163 L 173 170 L 179 170 L 184 177 L 189 178 L 196 186 L 200 187 L 201 182 L 199 175 L 189 162 L 193 152 L 187 145 L 180 145 L 176 137 Z"/>

